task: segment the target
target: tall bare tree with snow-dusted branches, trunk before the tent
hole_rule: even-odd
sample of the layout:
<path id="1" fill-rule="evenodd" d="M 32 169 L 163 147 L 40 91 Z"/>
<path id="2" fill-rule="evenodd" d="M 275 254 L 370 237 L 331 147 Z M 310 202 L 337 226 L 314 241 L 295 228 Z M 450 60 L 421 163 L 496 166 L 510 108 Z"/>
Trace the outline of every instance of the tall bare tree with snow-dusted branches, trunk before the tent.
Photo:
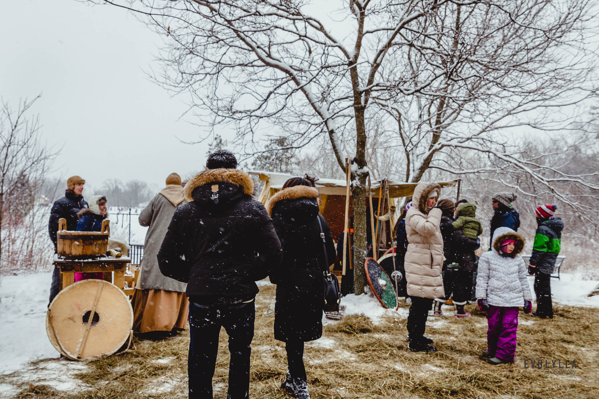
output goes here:
<path id="1" fill-rule="evenodd" d="M 276 124 L 289 147 L 325 135 L 341 168 L 350 154 L 356 203 L 373 121 L 418 182 L 450 149 L 488 151 L 509 128 L 567 125 L 557 110 L 595 92 L 591 0 L 345 0 L 338 10 L 307 0 L 107 2 L 150 17 L 168 37 L 158 80 L 189 92 L 213 126 L 237 124 L 250 152 Z M 361 264 L 365 208 L 354 212 Z M 361 294 L 362 268 L 355 283 Z"/>

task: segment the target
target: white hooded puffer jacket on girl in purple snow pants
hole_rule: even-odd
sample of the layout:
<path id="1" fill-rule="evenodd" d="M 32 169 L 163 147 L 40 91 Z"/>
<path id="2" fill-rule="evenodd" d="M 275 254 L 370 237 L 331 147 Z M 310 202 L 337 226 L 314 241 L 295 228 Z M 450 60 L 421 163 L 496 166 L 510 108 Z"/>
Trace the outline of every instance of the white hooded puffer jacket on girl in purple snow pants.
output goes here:
<path id="1" fill-rule="evenodd" d="M 511 256 L 502 256 L 500 245 L 509 238 L 516 240 L 516 248 Z M 533 300 L 526 278 L 527 266 L 519 255 L 524 239 L 509 227 L 499 227 L 493 233 L 492 248 L 479 259 L 476 297 L 486 298 L 493 306 L 524 306 L 525 300 Z"/>

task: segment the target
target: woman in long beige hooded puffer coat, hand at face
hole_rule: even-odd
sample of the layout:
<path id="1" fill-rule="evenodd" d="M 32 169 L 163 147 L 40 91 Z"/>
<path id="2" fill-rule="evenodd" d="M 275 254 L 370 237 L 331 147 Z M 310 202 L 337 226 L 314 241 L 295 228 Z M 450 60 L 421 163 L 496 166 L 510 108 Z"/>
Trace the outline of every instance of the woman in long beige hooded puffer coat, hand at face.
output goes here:
<path id="1" fill-rule="evenodd" d="M 412 298 L 408 315 L 408 349 L 413 352 L 435 352 L 432 339 L 424 336 L 428 310 L 434 298 L 445 296 L 443 291 L 443 236 L 441 236 L 441 209 L 437 205 L 441 193 L 436 183 L 420 183 L 412 196 L 412 208 L 406 214 L 408 248 L 406 290 Z"/>

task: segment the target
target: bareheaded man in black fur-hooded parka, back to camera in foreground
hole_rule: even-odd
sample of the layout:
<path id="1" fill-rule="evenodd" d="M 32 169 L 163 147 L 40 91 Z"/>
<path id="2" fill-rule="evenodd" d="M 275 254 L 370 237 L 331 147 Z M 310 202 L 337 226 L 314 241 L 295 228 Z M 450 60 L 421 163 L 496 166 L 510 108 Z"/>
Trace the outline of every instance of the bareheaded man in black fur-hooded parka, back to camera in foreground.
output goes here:
<path id="1" fill-rule="evenodd" d="M 208 156 L 207 170 L 184 188 L 158 252 L 163 275 L 187 283 L 189 397 L 211 398 L 220 327 L 229 335 L 227 397 L 249 397 L 255 281 L 279 266 L 282 251 L 264 205 L 252 199 L 252 179 L 235 156 Z"/>

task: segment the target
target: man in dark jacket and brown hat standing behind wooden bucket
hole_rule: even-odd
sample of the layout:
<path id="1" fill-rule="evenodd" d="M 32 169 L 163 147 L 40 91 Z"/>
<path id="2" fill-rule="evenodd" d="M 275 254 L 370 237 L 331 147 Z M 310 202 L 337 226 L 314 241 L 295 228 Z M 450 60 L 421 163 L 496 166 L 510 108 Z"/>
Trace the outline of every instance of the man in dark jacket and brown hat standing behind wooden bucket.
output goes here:
<path id="1" fill-rule="evenodd" d="M 58 232 L 58 220 L 66 219 L 66 230 L 74 232 L 77 230 L 78 213 L 81 209 L 89 208 L 87 202 L 83 199 L 83 185 L 85 180 L 79 176 L 71 176 L 66 181 L 65 196 L 56 200 L 50 211 L 50 221 L 48 222 L 48 233 L 54 243 L 54 252 L 56 253 L 56 232 Z M 58 295 L 60 286 L 60 273 L 58 267 L 55 267 L 52 273 L 52 285 L 50 286 L 50 303 Z"/>

